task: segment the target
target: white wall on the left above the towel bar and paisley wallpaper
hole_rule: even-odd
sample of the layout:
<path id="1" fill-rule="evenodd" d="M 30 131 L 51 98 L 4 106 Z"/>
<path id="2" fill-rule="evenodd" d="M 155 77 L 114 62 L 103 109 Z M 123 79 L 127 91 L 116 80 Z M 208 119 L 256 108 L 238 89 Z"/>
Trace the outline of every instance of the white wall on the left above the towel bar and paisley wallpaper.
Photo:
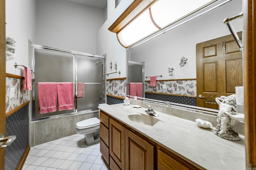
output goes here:
<path id="1" fill-rule="evenodd" d="M 28 39 L 35 41 L 35 0 L 6 0 L 6 37 L 16 40 L 16 58 L 6 61 L 6 72 L 24 76 L 24 67 L 14 68 L 14 62 L 29 66 Z"/>

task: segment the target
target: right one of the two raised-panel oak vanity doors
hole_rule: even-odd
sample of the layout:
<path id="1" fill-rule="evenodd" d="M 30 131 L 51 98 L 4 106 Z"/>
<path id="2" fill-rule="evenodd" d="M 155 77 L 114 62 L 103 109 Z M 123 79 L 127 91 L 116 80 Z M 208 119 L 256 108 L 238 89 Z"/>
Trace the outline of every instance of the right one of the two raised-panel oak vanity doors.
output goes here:
<path id="1" fill-rule="evenodd" d="M 125 129 L 125 169 L 154 169 L 154 146 L 128 129 Z"/>

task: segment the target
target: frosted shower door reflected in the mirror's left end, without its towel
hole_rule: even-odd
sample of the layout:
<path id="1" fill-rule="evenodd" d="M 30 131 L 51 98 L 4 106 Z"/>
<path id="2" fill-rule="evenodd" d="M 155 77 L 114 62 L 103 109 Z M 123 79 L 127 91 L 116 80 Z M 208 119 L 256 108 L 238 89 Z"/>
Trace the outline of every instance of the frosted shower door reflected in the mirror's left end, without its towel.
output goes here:
<path id="1" fill-rule="evenodd" d="M 127 94 L 130 94 L 129 83 L 143 83 L 142 97 L 145 98 L 144 93 L 144 62 L 138 63 L 134 61 L 127 61 Z"/>

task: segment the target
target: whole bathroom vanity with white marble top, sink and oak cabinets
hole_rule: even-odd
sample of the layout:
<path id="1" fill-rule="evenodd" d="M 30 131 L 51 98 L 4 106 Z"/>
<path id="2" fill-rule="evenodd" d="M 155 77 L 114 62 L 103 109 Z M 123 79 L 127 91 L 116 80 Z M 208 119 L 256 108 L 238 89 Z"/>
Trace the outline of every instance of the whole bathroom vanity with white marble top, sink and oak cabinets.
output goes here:
<path id="1" fill-rule="evenodd" d="M 140 108 L 132 107 L 140 104 Z M 200 113 L 150 104 L 160 116 L 148 115 L 147 102 L 100 106 L 100 152 L 110 169 L 244 169 L 244 136 L 240 141 L 222 139 L 213 128 L 198 127 L 195 121 L 175 114 Z M 160 112 L 161 111 L 161 112 Z M 173 112 L 173 113 L 171 113 Z M 176 113 L 174 113 L 176 112 Z"/>

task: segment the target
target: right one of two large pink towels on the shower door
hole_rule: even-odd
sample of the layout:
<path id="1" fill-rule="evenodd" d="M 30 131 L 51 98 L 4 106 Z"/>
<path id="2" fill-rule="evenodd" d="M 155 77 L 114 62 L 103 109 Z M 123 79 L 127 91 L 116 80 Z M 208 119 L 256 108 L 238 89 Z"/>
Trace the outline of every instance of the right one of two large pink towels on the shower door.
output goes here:
<path id="1" fill-rule="evenodd" d="M 72 82 L 57 83 L 58 111 L 74 108 L 74 92 Z"/>

